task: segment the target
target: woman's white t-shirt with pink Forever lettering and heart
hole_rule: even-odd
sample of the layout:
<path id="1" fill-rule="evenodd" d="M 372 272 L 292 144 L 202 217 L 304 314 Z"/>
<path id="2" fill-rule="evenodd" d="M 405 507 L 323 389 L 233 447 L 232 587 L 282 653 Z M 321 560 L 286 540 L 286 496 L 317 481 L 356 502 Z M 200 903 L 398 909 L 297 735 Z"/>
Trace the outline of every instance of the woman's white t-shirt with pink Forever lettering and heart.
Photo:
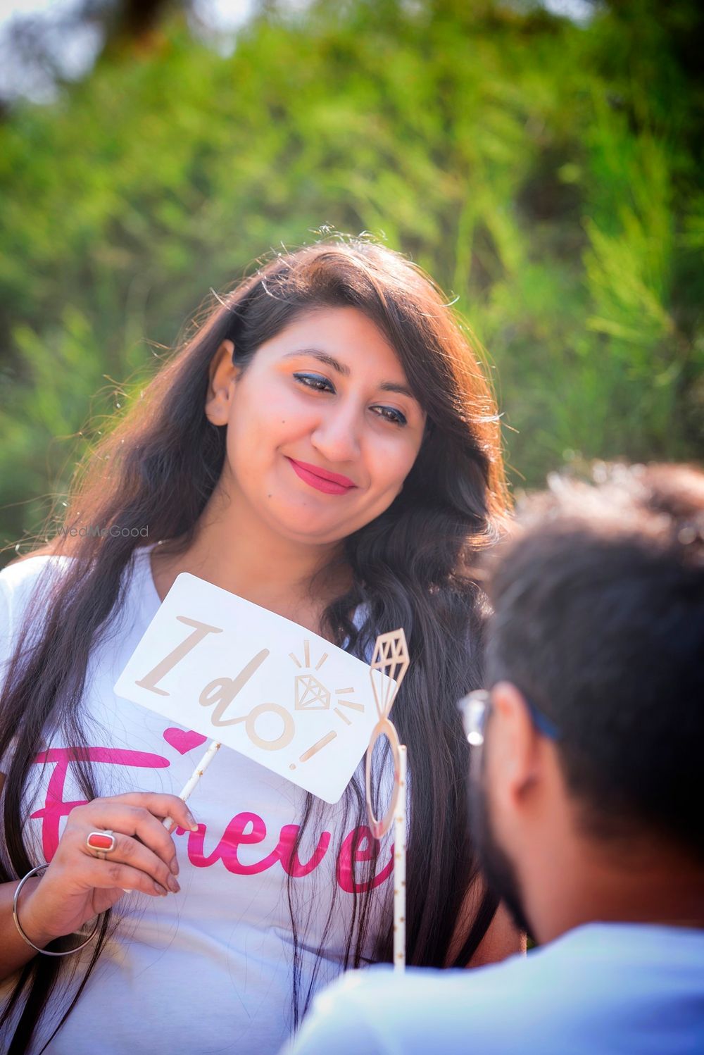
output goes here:
<path id="1" fill-rule="evenodd" d="M 178 794 L 202 752 L 204 737 L 171 725 L 137 704 L 117 697 L 113 685 L 159 608 L 149 554 L 135 551 L 124 607 L 91 654 L 81 709 L 99 793 L 168 791 Z M 0 572 L 0 684 L 28 594 L 40 573 L 60 574 L 71 557 L 27 558 Z M 128 574 L 130 573 L 131 574 Z M 37 759 L 28 793 L 25 842 L 34 861 L 51 860 L 65 816 L 83 795 L 66 763 L 66 745 L 52 737 Z M 39 764 L 44 762 L 44 765 Z M 357 769 L 364 788 L 364 760 Z M 364 794 L 364 792 L 363 792 Z M 297 857 L 291 841 L 300 824 L 306 793 L 257 763 L 222 748 L 189 800 L 198 832 L 177 829 L 179 894 L 150 898 L 125 894 L 120 917 L 76 1008 L 46 1049 L 52 1055 L 138 1055 L 178 1052 L 266 1055 L 292 1029 L 293 938 L 287 869 L 294 875 L 301 991 L 317 989 L 341 971 L 354 897 L 351 860 L 354 817 L 344 800 L 306 827 Z M 345 837 L 339 853 L 336 847 Z M 374 881 L 375 923 L 390 913 L 391 832 L 382 841 Z M 357 860 L 363 859 L 363 843 Z M 326 932 L 333 891 L 335 908 Z M 314 976 L 316 951 L 322 958 Z M 66 960 L 85 962 L 91 945 Z M 73 963 L 72 963 L 73 965 Z M 80 977 L 80 974 L 79 976 Z M 0 1005 L 11 986 L 0 983 Z M 71 991 L 73 992 L 73 990 Z M 33 1052 L 51 1034 L 66 1001 L 53 999 Z M 58 1012 L 58 1014 L 54 1014 Z M 53 1023 L 53 1024 L 52 1024 Z M 0 1043 L 1 1047 L 1 1043 Z"/>

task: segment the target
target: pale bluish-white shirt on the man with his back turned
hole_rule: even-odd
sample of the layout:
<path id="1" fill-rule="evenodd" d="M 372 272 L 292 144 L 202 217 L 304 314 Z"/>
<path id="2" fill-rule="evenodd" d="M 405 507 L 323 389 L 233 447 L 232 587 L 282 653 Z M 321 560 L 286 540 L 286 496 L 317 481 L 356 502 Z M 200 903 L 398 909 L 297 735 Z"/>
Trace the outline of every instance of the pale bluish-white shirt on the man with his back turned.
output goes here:
<path id="1" fill-rule="evenodd" d="M 281 1055 L 702 1055 L 704 931 L 589 923 L 465 971 L 352 971 Z"/>

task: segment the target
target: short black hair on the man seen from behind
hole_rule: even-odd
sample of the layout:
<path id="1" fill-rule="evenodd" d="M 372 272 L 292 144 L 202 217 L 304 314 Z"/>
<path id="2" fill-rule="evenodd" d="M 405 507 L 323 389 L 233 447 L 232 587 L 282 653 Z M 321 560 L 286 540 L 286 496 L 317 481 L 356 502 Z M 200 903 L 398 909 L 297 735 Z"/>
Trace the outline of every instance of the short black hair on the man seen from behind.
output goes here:
<path id="1" fill-rule="evenodd" d="M 704 859 L 704 473 L 606 465 L 519 506 L 487 589 L 488 684 L 561 730 L 592 833 L 658 831 Z"/>

